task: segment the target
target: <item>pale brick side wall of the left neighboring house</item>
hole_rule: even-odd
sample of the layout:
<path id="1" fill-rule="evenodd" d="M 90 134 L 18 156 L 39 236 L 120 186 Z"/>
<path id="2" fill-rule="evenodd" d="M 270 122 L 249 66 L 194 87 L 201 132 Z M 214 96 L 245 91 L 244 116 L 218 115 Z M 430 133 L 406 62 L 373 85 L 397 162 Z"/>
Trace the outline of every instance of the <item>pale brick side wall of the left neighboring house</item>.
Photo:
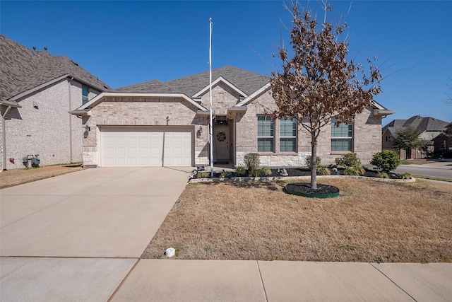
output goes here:
<path id="1" fill-rule="evenodd" d="M 90 96 L 96 94 L 90 91 Z M 69 79 L 20 98 L 22 108 L 11 108 L 5 121 L 6 169 L 24 168 L 22 158 L 28 154 L 39 154 L 41 165 L 81 162 L 82 122 L 69 114 L 81 106 L 81 99 L 81 84 Z M 9 158 L 14 158 L 14 163 Z"/>

